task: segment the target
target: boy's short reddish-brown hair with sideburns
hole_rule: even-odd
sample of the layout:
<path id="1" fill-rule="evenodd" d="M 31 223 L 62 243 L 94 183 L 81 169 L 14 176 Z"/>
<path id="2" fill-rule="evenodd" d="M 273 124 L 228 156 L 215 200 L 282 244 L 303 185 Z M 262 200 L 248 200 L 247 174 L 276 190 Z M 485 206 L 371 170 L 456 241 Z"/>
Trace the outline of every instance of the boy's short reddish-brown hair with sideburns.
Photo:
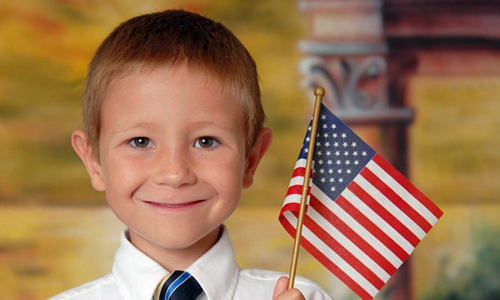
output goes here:
<path id="1" fill-rule="evenodd" d="M 98 157 L 101 109 L 111 81 L 127 72 L 181 61 L 213 75 L 223 92 L 241 102 L 248 154 L 265 119 L 254 59 L 221 23 L 184 10 L 166 10 L 119 25 L 90 62 L 82 112 L 90 146 Z"/>

